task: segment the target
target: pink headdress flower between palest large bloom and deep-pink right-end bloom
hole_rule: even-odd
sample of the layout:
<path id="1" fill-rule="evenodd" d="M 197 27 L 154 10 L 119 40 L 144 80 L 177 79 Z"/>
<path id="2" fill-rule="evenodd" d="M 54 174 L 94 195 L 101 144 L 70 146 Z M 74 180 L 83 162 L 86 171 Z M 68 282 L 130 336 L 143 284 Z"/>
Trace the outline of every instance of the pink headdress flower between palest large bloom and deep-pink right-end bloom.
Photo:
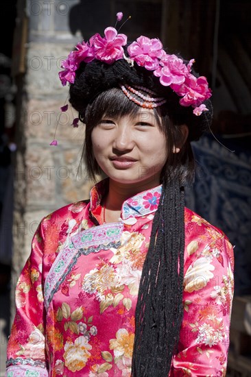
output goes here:
<path id="1" fill-rule="evenodd" d="M 169 86 L 171 84 L 183 84 L 189 69 L 183 60 L 176 55 L 166 55 L 160 60 L 160 66 L 154 75 L 160 77 L 160 84 Z"/>

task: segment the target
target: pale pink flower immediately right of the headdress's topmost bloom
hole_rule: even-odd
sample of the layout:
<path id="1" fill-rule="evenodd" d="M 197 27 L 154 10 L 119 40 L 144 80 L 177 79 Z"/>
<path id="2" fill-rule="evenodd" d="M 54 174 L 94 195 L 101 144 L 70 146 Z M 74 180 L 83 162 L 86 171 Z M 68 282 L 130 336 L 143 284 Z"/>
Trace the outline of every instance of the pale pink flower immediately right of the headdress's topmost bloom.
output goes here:
<path id="1" fill-rule="evenodd" d="M 140 36 L 128 46 L 128 54 L 139 66 L 144 66 L 149 71 L 158 69 L 159 60 L 165 56 L 162 43 L 158 38 Z"/>

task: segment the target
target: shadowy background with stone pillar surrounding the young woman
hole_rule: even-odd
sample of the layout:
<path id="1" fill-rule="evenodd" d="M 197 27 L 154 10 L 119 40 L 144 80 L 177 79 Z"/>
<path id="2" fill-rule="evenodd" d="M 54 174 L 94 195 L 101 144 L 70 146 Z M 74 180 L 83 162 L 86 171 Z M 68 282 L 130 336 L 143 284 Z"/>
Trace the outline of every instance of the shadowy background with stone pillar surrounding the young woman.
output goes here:
<path id="1" fill-rule="evenodd" d="M 0 47 L 0 376 L 14 315 L 14 287 L 43 216 L 88 198 L 78 171 L 84 127 L 72 109 L 60 63 L 75 44 L 114 26 L 160 38 L 169 53 L 195 58 L 213 89 L 212 132 L 193 143 L 198 173 L 187 206 L 235 245 L 235 297 L 227 376 L 251 375 L 251 38 L 250 0 L 8 0 Z M 3 23 L 6 21 L 6 23 Z M 49 143 L 58 124 L 58 147 Z M 216 140 L 217 138 L 217 140 Z"/>

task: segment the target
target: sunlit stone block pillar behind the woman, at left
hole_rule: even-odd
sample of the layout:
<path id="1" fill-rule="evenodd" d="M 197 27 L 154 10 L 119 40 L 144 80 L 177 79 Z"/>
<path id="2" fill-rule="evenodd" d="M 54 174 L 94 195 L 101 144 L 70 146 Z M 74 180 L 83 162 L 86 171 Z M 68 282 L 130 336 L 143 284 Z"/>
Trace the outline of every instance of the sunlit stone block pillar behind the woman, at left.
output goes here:
<path id="1" fill-rule="evenodd" d="M 69 13 L 78 0 L 19 0 L 14 38 L 16 167 L 12 278 L 14 284 L 29 256 L 40 220 L 70 202 L 87 199 L 93 182 L 84 168 L 77 175 L 84 125 L 73 128 L 72 108 L 62 113 L 68 88 L 58 78 L 60 62 L 80 34 L 69 31 Z M 58 146 L 49 143 L 58 124 Z"/>

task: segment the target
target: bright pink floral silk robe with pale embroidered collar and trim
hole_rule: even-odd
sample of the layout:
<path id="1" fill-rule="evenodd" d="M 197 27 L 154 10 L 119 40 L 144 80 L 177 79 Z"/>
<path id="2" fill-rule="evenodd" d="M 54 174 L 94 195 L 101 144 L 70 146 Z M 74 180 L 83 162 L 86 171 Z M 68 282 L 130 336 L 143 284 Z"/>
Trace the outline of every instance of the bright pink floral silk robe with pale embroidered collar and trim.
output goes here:
<path id="1" fill-rule="evenodd" d="M 91 201 L 41 221 L 16 287 L 6 376 L 129 377 L 134 312 L 161 186 L 102 223 L 105 181 Z M 185 209 L 184 318 L 169 376 L 224 376 L 233 290 L 232 246 Z"/>

